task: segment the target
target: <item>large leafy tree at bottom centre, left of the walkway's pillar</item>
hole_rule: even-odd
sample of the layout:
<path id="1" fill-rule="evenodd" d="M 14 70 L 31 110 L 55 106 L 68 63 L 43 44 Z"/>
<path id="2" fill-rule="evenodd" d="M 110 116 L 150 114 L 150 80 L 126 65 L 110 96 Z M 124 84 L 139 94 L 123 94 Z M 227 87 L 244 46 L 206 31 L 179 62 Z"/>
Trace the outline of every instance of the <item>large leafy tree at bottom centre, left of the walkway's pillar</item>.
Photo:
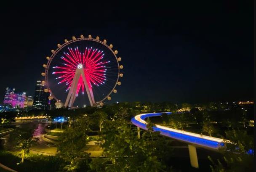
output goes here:
<path id="1" fill-rule="evenodd" d="M 107 120 L 102 132 L 99 144 L 107 159 L 93 159 L 90 167 L 96 172 L 157 172 L 165 168 L 152 142 L 138 139 L 136 129 L 124 119 Z"/>

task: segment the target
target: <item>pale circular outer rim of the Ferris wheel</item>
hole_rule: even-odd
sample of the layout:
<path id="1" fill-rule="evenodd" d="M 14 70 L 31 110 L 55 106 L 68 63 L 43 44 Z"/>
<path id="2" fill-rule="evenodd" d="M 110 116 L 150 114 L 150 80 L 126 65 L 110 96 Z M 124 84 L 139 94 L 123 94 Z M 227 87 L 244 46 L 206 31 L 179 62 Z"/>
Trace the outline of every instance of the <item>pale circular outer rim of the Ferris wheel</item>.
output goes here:
<path id="1" fill-rule="evenodd" d="M 53 60 L 53 58 L 56 56 L 56 54 L 61 50 L 61 49 L 63 49 L 64 47 L 66 47 L 67 45 L 69 45 L 69 44 L 71 44 L 71 43 L 73 43 L 73 42 L 78 42 L 78 41 L 94 41 L 94 42 L 98 42 L 98 43 L 100 43 L 101 45 L 104 45 L 105 47 L 107 47 L 111 52 L 112 52 L 112 54 L 114 55 L 114 57 L 115 57 L 115 59 L 116 59 L 116 61 L 117 61 L 117 66 L 118 66 L 118 72 L 117 72 L 117 80 L 116 80 L 116 82 L 115 82 L 115 85 L 114 85 L 114 87 L 112 88 L 112 90 L 109 92 L 109 94 L 107 94 L 107 96 L 105 96 L 103 99 L 101 99 L 100 101 L 97 101 L 96 102 L 96 104 L 97 103 L 101 103 L 101 102 L 103 102 L 104 100 L 106 100 L 108 97 L 109 97 L 109 95 L 111 95 L 112 93 L 113 93 L 113 91 L 115 90 L 115 87 L 117 86 L 117 83 L 119 82 L 119 77 L 120 77 L 120 64 L 119 64 L 119 61 L 118 61 L 118 58 L 117 58 L 117 56 L 116 56 L 116 54 L 115 54 L 115 52 L 112 50 L 112 48 L 110 48 L 106 43 L 104 43 L 104 42 L 102 42 L 102 41 L 100 41 L 99 39 L 97 39 L 97 38 L 99 38 L 99 37 L 97 37 L 96 39 L 94 39 L 94 38 L 91 38 L 91 37 L 80 37 L 80 38 L 75 38 L 75 37 L 73 37 L 73 39 L 72 40 L 69 40 L 69 41 L 67 41 L 67 40 L 65 40 L 65 43 L 64 44 L 62 44 L 62 45 L 60 45 L 60 44 L 58 44 L 58 48 L 56 49 L 56 50 L 52 50 L 51 52 L 52 52 L 52 54 L 51 54 L 51 56 L 50 56 L 50 59 L 48 60 L 48 62 L 47 62 L 47 64 L 46 64 L 46 67 L 45 67 L 45 82 L 46 82 L 46 87 L 49 89 L 49 90 L 51 90 L 51 88 L 50 88 L 50 86 L 49 86 L 49 84 L 48 84 L 48 70 L 49 70 L 49 67 L 50 67 L 50 65 L 51 65 L 51 61 Z M 110 45 L 112 45 L 112 44 L 110 44 Z M 58 98 L 56 98 L 56 96 L 53 94 L 53 92 L 51 91 L 51 96 L 56 100 L 56 101 L 59 101 L 59 99 Z"/>

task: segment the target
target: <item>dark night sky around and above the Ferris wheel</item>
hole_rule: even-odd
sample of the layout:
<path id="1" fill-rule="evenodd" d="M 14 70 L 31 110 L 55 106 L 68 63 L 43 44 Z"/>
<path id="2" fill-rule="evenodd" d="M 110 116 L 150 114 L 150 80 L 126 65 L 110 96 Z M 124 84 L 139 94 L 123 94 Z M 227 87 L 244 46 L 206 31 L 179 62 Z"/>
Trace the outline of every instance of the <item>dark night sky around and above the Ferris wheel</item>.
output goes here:
<path id="1" fill-rule="evenodd" d="M 111 102 L 253 98 L 253 1 L 120 2 L 1 4 L 0 99 L 5 87 L 34 95 L 51 49 L 80 34 L 122 57 Z"/>

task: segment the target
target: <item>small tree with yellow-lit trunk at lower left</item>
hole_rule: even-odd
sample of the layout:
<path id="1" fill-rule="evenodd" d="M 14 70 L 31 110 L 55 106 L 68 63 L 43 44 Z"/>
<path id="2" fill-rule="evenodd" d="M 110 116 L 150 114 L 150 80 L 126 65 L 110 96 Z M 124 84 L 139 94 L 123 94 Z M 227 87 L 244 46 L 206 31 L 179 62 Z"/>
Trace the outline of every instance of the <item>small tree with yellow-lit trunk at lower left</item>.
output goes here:
<path id="1" fill-rule="evenodd" d="M 32 138 L 33 131 L 32 128 L 17 128 L 10 134 L 10 139 L 16 143 L 16 148 L 21 149 L 21 163 L 24 162 L 25 154 L 29 153 L 29 148 L 37 143 L 38 138 Z"/>

